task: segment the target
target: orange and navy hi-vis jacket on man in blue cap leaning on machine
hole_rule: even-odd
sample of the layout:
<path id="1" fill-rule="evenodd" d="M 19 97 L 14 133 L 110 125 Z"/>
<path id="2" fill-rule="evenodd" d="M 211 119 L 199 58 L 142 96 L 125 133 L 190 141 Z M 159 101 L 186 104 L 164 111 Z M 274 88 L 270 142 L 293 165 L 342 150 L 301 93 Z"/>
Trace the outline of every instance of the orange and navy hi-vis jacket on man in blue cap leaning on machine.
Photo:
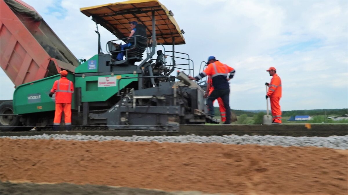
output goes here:
<path id="1" fill-rule="evenodd" d="M 208 64 L 208 67 L 195 78 L 199 80 L 205 76 L 211 76 L 215 89 L 228 89 L 230 86 L 228 84 L 227 75 L 230 73 L 229 78 L 232 78 L 235 75 L 235 72 L 234 68 L 216 60 L 215 62 Z"/>

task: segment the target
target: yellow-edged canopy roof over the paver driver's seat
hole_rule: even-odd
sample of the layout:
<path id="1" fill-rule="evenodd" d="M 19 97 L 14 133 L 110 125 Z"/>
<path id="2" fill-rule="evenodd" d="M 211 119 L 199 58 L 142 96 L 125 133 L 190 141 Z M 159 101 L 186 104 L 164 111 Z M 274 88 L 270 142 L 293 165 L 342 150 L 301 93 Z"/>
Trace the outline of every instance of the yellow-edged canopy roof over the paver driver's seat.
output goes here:
<path id="1" fill-rule="evenodd" d="M 168 9 L 158 0 L 129 0 L 99 6 L 80 8 L 86 16 L 108 29 L 119 39 L 128 37 L 128 22 L 136 21 L 146 27 L 148 38 L 152 35 L 152 11 L 155 11 L 156 39 L 162 44 L 185 44 L 179 25 Z"/>

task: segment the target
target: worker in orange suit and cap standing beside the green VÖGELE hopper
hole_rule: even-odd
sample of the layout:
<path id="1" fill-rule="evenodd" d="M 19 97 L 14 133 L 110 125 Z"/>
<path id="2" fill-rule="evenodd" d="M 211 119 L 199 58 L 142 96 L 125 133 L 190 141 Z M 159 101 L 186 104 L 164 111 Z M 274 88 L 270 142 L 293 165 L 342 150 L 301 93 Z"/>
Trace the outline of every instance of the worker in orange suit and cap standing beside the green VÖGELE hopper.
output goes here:
<path id="1" fill-rule="evenodd" d="M 62 112 L 64 112 L 65 125 L 71 125 L 71 99 L 74 93 L 73 83 L 66 78 L 68 71 L 62 70 L 59 72 L 61 78 L 53 84 L 50 97 L 56 93 L 56 111 L 54 113 L 53 130 L 58 130 L 58 125 L 61 124 Z M 69 130 L 69 127 L 66 128 Z"/>

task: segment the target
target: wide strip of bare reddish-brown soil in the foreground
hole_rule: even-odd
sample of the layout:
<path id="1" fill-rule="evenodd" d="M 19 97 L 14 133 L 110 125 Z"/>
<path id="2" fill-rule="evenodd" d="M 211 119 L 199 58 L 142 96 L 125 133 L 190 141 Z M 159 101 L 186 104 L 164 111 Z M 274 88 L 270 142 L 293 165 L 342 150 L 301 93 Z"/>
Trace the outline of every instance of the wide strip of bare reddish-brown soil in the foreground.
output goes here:
<path id="1" fill-rule="evenodd" d="M 234 194 L 347 194 L 348 152 L 156 142 L 0 139 L 0 180 Z"/>

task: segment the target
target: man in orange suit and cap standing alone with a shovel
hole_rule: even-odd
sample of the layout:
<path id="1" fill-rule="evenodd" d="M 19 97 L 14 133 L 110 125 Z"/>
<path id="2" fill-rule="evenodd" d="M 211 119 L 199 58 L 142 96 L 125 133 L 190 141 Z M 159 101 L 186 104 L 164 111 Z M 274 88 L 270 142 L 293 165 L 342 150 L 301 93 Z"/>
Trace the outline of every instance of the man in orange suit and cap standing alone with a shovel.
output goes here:
<path id="1" fill-rule="evenodd" d="M 266 99 L 270 99 L 271 110 L 274 124 L 282 123 L 282 111 L 280 110 L 279 100 L 282 97 L 282 82 L 280 77 L 276 73 L 276 68 L 270 67 L 268 70 L 269 75 L 272 76 L 271 83 L 266 83 L 269 87 L 266 95 Z"/>

